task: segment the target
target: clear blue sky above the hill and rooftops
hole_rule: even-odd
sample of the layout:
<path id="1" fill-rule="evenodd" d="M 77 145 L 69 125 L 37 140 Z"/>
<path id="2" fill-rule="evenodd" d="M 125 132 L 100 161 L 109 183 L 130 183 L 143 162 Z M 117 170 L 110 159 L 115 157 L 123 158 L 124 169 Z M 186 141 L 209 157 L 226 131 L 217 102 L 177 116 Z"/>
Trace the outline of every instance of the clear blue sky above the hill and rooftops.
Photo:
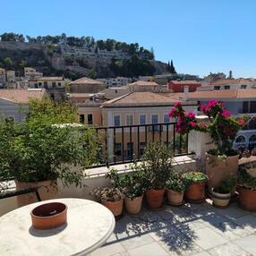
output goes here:
<path id="1" fill-rule="evenodd" d="M 179 73 L 256 77 L 255 0 L 9 0 L 0 33 L 93 36 L 153 47 Z"/>

